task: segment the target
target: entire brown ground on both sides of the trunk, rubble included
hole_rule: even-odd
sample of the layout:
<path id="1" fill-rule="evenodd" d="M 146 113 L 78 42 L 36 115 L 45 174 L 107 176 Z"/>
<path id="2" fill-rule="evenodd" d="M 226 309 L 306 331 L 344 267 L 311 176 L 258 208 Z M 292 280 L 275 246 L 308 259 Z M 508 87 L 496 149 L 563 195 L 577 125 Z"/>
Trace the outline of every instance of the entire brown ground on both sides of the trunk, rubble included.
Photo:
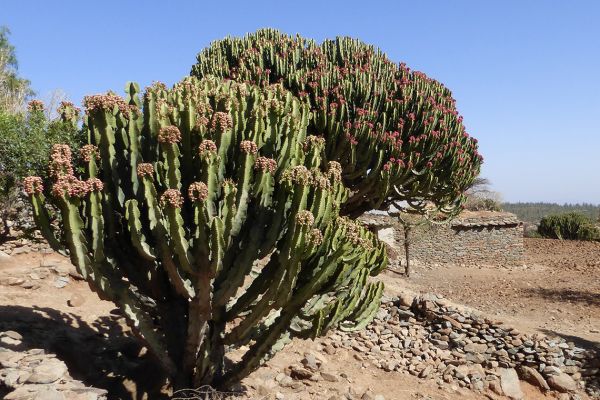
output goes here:
<path id="1" fill-rule="evenodd" d="M 527 240 L 526 247 L 523 268 L 417 266 L 409 280 L 383 274 L 386 301 L 365 331 L 294 341 L 242 382 L 243 397 L 597 396 L 600 246 Z M 168 398 L 164 377 L 118 310 L 65 259 L 30 243 L 5 250 L 13 255 L 0 253 L 0 397 Z"/>

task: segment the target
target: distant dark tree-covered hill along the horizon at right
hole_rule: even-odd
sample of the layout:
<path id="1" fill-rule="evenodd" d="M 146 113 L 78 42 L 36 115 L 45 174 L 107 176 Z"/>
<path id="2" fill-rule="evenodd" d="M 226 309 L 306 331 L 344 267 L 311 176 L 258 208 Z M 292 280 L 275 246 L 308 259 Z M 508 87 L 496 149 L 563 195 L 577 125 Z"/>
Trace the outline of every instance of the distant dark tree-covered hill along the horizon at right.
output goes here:
<path id="1" fill-rule="evenodd" d="M 556 203 L 503 203 L 504 211 L 516 214 L 521 221 L 537 224 L 548 214 L 579 212 L 597 221 L 600 216 L 600 205 L 597 204 L 556 204 Z"/>

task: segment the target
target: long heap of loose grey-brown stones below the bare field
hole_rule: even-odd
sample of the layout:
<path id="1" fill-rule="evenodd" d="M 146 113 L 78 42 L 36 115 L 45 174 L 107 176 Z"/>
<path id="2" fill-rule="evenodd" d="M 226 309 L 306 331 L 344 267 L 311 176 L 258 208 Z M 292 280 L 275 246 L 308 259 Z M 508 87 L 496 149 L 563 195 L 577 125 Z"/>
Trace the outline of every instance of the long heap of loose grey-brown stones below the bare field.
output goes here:
<path id="1" fill-rule="evenodd" d="M 386 371 L 400 371 L 440 386 L 466 387 L 523 398 L 519 378 L 565 399 L 586 389 L 600 395 L 600 351 L 561 338 L 527 335 L 458 307 L 436 295 L 385 299 L 362 332 L 335 332 L 334 347 Z"/>

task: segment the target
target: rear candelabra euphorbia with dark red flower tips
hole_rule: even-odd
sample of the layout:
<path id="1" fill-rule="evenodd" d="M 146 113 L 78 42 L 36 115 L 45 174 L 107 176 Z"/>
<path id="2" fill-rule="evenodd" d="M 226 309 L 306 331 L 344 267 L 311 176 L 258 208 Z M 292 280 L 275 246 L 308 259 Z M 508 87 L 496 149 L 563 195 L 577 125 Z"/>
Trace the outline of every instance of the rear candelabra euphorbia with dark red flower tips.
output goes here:
<path id="1" fill-rule="evenodd" d="M 198 54 L 192 75 L 260 86 L 281 83 L 311 107 L 308 133 L 342 166 L 343 215 L 408 201 L 453 215 L 479 174 L 450 90 L 347 38 L 318 45 L 272 29 L 226 38 Z"/>

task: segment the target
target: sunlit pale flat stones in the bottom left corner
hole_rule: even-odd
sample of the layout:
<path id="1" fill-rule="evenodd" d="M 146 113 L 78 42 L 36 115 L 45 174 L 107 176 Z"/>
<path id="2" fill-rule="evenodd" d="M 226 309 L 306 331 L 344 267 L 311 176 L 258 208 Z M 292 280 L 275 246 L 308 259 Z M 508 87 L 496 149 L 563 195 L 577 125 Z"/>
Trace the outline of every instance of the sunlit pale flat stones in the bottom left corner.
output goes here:
<path id="1" fill-rule="evenodd" d="M 107 392 L 73 379 L 64 362 L 43 349 L 14 351 L 22 337 L 0 332 L 0 397 L 6 400 L 105 400 Z M 6 347 L 4 347 L 6 346 Z"/>

